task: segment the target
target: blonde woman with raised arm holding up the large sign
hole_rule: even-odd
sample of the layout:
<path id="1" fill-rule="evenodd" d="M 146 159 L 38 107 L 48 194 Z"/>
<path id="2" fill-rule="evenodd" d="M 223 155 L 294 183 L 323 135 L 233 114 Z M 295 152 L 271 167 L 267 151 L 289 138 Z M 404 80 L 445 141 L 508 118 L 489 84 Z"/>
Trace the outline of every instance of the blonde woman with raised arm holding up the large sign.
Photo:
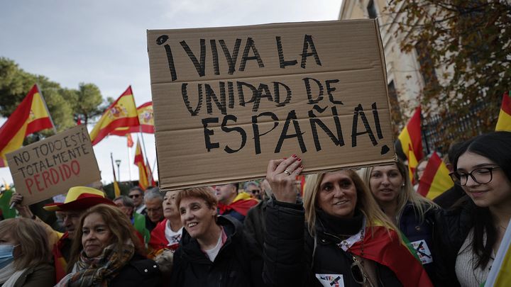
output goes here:
<path id="1" fill-rule="evenodd" d="M 266 179 L 265 283 L 273 286 L 432 286 L 355 171 L 307 176 L 297 202 L 296 154 L 271 160 Z"/>

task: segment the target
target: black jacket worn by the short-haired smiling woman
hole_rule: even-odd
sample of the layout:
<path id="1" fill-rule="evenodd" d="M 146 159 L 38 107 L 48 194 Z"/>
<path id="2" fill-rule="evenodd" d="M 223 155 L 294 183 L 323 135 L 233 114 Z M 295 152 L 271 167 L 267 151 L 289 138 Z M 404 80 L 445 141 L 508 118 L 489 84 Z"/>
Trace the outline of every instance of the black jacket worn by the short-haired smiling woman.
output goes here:
<path id="1" fill-rule="evenodd" d="M 227 240 L 214 262 L 183 230 L 168 286 L 263 286 L 263 261 L 254 242 L 244 234 L 243 225 L 229 215 L 219 216 L 217 223 L 224 227 Z"/>

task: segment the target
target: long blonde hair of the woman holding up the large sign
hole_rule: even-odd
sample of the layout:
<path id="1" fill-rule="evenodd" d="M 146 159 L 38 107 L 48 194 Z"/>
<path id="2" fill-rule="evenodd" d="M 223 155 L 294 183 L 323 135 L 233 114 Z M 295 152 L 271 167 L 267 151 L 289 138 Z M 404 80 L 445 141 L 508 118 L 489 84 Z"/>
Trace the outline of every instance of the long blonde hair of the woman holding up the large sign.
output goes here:
<path id="1" fill-rule="evenodd" d="M 376 203 L 373 196 L 370 195 L 369 189 L 363 183 L 362 179 L 355 171 L 351 169 L 343 169 L 348 174 L 350 179 L 355 184 L 356 192 L 357 192 L 357 202 L 355 208 L 361 210 L 363 215 L 366 217 L 366 226 L 373 227 L 376 225 L 383 225 L 388 229 L 397 230 L 397 227 L 388 219 L 388 217 L 383 213 L 383 211 Z M 340 171 L 333 171 L 340 172 Z M 305 209 L 305 220 L 307 221 L 307 229 L 309 230 L 310 235 L 314 236 L 316 225 L 316 209 L 318 207 L 318 194 L 319 194 L 319 186 L 323 180 L 324 172 L 319 174 L 309 174 L 305 181 L 307 185 L 305 186 L 304 191 L 304 209 Z"/>

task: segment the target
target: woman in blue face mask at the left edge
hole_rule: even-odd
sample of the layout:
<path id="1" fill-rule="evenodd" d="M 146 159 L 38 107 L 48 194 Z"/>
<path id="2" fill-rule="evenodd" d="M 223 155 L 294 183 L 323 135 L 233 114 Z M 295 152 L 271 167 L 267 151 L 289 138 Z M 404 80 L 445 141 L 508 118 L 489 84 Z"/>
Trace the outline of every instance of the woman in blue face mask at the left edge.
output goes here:
<path id="1" fill-rule="evenodd" d="M 45 228 L 35 220 L 12 218 L 0 222 L 0 285 L 55 285 Z"/>

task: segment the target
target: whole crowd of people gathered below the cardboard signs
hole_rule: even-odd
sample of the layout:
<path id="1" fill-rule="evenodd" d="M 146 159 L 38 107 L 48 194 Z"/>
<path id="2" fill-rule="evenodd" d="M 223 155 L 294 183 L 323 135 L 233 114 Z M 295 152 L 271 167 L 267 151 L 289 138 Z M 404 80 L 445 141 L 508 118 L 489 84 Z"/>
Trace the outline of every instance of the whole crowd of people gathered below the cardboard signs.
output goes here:
<path id="1" fill-rule="evenodd" d="M 243 184 L 135 187 L 113 200 L 75 186 L 44 207 L 64 232 L 14 193 L 18 218 L 0 221 L 0 285 L 480 286 L 511 218 L 509 147 L 508 132 L 452 145 L 455 188 L 434 201 L 400 161 L 297 186 L 297 154 Z"/>

